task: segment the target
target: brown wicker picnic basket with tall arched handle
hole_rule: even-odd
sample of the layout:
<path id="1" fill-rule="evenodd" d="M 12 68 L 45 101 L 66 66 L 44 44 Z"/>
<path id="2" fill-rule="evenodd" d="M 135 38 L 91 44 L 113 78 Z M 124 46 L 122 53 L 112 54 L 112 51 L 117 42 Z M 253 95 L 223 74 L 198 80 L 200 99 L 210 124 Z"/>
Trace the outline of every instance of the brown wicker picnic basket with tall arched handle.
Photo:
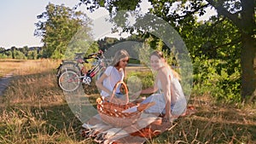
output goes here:
<path id="1" fill-rule="evenodd" d="M 125 88 L 125 98 L 129 101 L 128 96 L 128 89 L 124 82 L 118 82 L 115 84 L 113 88 L 112 97 L 114 97 L 115 91 L 118 88 L 118 85 L 122 84 L 122 86 Z M 115 98 L 115 97 L 114 97 Z M 126 109 L 129 109 L 131 107 L 137 106 L 134 103 L 127 103 L 119 102 L 116 103 L 116 98 L 109 101 L 102 101 L 102 98 L 98 98 L 97 101 L 97 111 L 99 112 L 99 115 L 102 118 L 102 121 L 111 124 L 114 127 L 125 127 L 129 126 L 131 124 L 134 124 L 137 121 L 137 118 L 140 117 L 141 112 L 123 112 Z M 115 102 L 113 102 L 115 101 Z"/>

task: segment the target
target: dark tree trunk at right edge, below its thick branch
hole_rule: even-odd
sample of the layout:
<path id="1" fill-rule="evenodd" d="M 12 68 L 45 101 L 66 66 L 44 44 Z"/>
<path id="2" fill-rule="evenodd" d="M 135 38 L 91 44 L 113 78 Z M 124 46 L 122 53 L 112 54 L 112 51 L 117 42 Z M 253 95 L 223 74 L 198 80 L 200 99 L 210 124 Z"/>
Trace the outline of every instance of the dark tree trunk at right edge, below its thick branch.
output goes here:
<path id="1" fill-rule="evenodd" d="M 241 34 L 241 97 L 243 101 L 256 90 L 256 44 L 252 35 Z M 247 97 L 248 96 L 248 97 Z M 248 100 L 248 99 L 247 99 Z"/>

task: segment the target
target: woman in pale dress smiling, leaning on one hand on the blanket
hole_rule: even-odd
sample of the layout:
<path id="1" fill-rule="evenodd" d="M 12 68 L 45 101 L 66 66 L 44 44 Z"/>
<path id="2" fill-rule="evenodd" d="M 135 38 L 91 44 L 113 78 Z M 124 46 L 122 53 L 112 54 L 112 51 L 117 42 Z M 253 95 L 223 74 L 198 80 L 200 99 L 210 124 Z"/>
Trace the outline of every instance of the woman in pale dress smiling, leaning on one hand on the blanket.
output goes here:
<path id="1" fill-rule="evenodd" d="M 163 53 L 154 51 L 150 55 L 150 64 L 154 71 L 156 71 L 156 81 L 154 87 L 143 89 L 139 94 L 151 94 L 146 100 L 142 102 L 148 103 L 154 101 L 155 104 L 149 107 L 145 112 L 155 113 L 157 115 L 164 114 L 163 121 L 172 121 L 185 112 L 187 101 L 183 94 L 183 89 L 179 83 L 180 77 L 172 70 L 166 63 Z"/>

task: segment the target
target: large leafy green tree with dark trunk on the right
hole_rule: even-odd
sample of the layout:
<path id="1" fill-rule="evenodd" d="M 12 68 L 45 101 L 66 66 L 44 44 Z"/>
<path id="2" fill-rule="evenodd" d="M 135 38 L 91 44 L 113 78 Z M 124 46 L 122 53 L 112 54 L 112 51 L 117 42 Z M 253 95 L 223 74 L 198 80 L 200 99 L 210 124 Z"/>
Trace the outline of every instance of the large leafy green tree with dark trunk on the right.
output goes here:
<path id="1" fill-rule="evenodd" d="M 81 0 L 81 2 L 84 1 Z M 116 17 L 114 15 L 116 11 L 129 9 L 137 12 L 137 7 L 139 7 L 138 1 L 134 1 L 134 3 L 119 0 L 100 2 L 101 4 L 97 0 L 90 0 L 85 4 L 91 10 L 98 6 L 104 6 L 113 14 L 113 19 Z M 197 58 L 201 59 L 202 55 L 207 60 L 223 60 L 226 63 L 223 66 L 228 66 L 225 72 L 230 77 L 236 73 L 234 71 L 234 67 L 238 65 L 236 61 L 241 61 L 241 96 L 245 98 L 247 95 L 253 95 L 256 87 L 256 74 L 252 62 L 256 57 L 256 49 L 254 49 L 255 1 L 148 0 L 148 2 L 152 6 L 149 13 L 166 20 L 183 37 L 194 61 Z M 122 5 L 123 3 L 125 5 Z M 204 15 L 206 8 L 210 7 L 217 9 L 218 15 L 210 20 L 198 22 L 195 14 Z M 127 14 L 119 16 L 126 18 Z M 143 33 L 141 27 L 127 26 L 128 23 L 125 23 L 125 20 L 113 21 L 125 32 L 136 32 L 137 30 L 137 32 Z M 150 46 L 155 49 L 157 42 L 157 37 L 154 37 L 154 40 L 150 41 Z M 219 67 L 216 71 L 220 71 Z M 231 80 L 227 79 L 227 81 Z"/>

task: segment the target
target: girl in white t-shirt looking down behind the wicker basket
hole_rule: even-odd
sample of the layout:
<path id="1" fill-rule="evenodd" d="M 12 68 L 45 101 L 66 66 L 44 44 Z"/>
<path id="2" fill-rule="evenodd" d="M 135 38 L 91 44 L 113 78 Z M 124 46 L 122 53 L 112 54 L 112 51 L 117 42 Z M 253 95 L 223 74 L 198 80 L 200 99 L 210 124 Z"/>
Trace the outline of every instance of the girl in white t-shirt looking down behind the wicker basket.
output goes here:
<path id="1" fill-rule="evenodd" d="M 124 80 L 125 66 L 128 64 L 128 61 L 129 54 L 125 49 L 120 49 L 113 56 L 112 63 L 96 81 L 97 88 L 102 90 L 101 95 L 103 101 L 111 101 L 113 99 L 113 97 L 109 98 L 109 95 L 112 95 L 114 85 L 117 84 L 117 82 Z M 115 96 L 118 98 L 124 96 L 120 94 L 119 87 L 116 89 Z M 125 103 L 128 103 L 128 101 L 125 101 Z"/>

